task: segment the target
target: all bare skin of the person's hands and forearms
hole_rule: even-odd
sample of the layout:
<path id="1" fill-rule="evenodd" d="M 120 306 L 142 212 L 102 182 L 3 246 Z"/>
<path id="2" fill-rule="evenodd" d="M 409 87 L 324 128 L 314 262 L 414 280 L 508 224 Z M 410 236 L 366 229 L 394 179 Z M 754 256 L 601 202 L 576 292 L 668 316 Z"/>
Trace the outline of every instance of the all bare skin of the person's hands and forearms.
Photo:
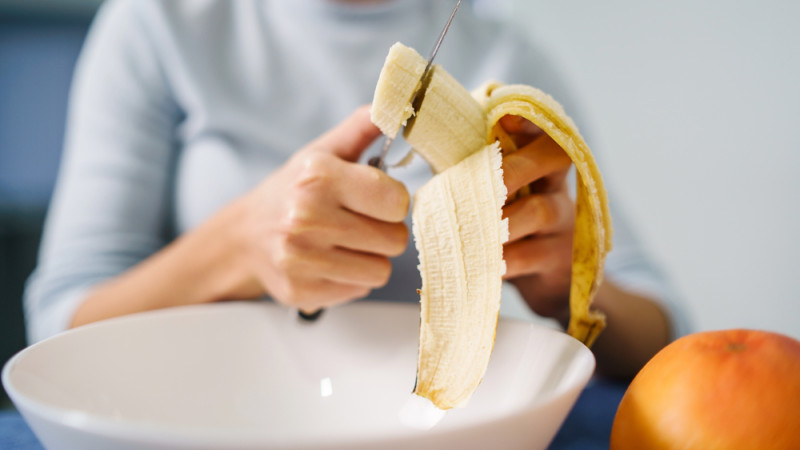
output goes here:
<path id="1" fill-rule="evenodd" d="M 504 157 L 511 239 L 506 278 L 540 315 L 566 325 L 574 203 L 570 160 L 530 122 L 505 118 L 520 150 Z M 314 311 L 365 297 L 407 245 L 406 188 L 357 163 L 380 135 L 363 106 L 300 149 L 251 192 L 131 270 L 97 286 L 72 326 L 169 306 L 269 295 Z M 668 341 L 668 322 L 645 297 L 605 283 L 595 306 L 610 326 L 594 346 L 600 372 L 630 377 Z"/>

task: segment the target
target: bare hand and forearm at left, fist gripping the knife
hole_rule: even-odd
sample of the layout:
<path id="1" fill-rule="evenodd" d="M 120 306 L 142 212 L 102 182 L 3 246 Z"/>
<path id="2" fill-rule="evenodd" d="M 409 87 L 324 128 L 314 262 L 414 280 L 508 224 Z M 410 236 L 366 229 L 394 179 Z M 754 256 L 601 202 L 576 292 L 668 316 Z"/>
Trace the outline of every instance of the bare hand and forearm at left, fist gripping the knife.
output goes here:
<path id="1" fill-rule="evenodd" d="M 408 239 L 405 187 L 356 162 L 379 134 L 359 108 L 208 221 L 93 286 L 71 326 L 264 294 L 307 312 L 366 296 Z"/>

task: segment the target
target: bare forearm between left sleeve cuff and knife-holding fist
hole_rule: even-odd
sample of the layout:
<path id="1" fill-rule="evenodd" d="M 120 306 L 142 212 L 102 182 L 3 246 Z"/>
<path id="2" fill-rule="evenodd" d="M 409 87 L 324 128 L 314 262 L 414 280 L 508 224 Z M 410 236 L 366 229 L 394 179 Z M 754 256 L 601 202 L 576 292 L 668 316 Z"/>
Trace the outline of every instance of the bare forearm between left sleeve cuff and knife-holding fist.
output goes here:
<path id="1" fill-rule="evenodd" d="M 248 298 L 263 291 L 248 276 L 231 230 L 241 219 L 234 203 L 197 229 L 92 290 L 76 311 L 76 327 L 169 306 Z"/>

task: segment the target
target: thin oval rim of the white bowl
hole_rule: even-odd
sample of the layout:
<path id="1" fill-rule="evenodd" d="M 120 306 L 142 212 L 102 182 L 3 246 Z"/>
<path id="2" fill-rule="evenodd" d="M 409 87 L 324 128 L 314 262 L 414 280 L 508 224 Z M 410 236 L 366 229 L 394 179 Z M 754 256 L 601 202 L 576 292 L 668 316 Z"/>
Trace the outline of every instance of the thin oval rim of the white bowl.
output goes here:
<path id="1" fill-rule="evenodd" d="M 87 324 L 78 328 L 73 328 L 70 330 L 63 331 L 59 334 L 54 336 L 50 336 L 46 339 L 43 339 L 39 342 L 31 344 L 22 350 L 19 350 L 15 353 L 3 366 L 2 375 L 0 375 L 0 379 L 2 380 L 2 385 L 8 394 L 8 397 L 11 399 L 12 403 L 17 407 L 18 411 L 34 431 L 36 434 L 37 430 L 32 425 L 32 420 L 29 419 L 28 414 L 33 414 L 37 419 L 42 419 L 47 422 L 51 422 L 53 425 L 63 426 L 75 431 L 80 431 L 83 433 L 97 435 L 109 439 L 114 440 L 130 440 L 134 442 L 141 442 L 143 444 L 157 444 L 157 445 L 172 445 L 172 446 L 189 446 L 189 447 L 196 447 L 196 448 L 204 448 L 204 447 L 219 447 L 219 446 L 236 446 L 236 447 L 258 447 L 263 446 L 265 444 L 268 445 L 296 445 L 298 447 L 303 446 L 322 446 L 325 447 L 326 445 L 329 446 L 347 446 L 349 444 L 352 445 L 370 445 L 375 443 L 379 445 L 381 442 L 386 442 L 388 440 L 393 441 L 401 441 L 403 439 L 415 439 L 419 437 L 434 437 L 440 435 L 447 435 L 449 433 L 458 432 L 461 427 L 456 428 L 442 428 L 442 427 L 434 427 L 430 430 L 416 430 L 413 428 L 392 431 L 389 433 L 383 433 L 380 436 L 377 435 L 361 435 L 360 438 L 355 437 L 347 437 L 347 436 L 337 436 L 335 439 L 325 438 L 324 436 L 314 436 L 313 434 L 309 433 L 303 436 L 298 436 L 296 439 L 293 438 L 291 442 L 283 442 L 279 440 L 274 440 L 269 442 L 265 441 L 265 438 L 270 438 L 269 434 L 264 433 L 263 431 L 247 431 L 247 430 L 232 430 L 232 429 L 224 429 L 224 428 L 195 428 L 195 427 L 174 427 L 174 426 L 160 426 L 154 423 L 146 423 L 146 422 L 118 422 L 113 419 L 109 419 L 107 417 L 103 417 L 101 415 L 97 415 L 91 412 L 85 412 L 60 406 L 53 406 L 49 405 L 46 402 L 29 398 L 27 395 L 21 393 L 17 390 L 17 388 L 13 385 L 11 381 L 11 372 L 14 370 L 14 367 L 17 365 L 21 358 L 24 358 L 26 354 L 33 351 L 33 349 L 48 345 L 49 342 L 56 340 L 56 339 L 63 339 L 64 336 L 75 334 L 75 333 L 85 333 L 88 329 L 93 328 L 103 328 L 113 326 L 114 323 L 119 321 L 139 321 L 139 320 L 147 320 L 147 318 L 157 315 L 184 315 L 190 313 L 192 310 L 198 311 L 206 311 L 208 309 L 227 309 L 227 308 L 252 308 L 253 305 L 266 304 L 269 308 L 286 308 L 283 305 L 272 301 L 260 301 L 260 300 L 243 300 L 243 301 L 226 301 L 226 302 L 215 302 L 215 303 L 208 303 L 208 304 L 201 304 L 201 305 L 183 305 L 183 306 L 175 306 L 165 309 L 159 310 L 152 310 L 152 311 L 144 311 L 138 312 L 134 314 L 129 314 L 122 317 L 115 317 L 110 318 L 102 321 L 98 321 L 95 323 Z M 377 307 L 377 308 L 402 308 L 408 309 L 412 307 L 416 307 L 414 303 L 407 303 L 407 302 L 397 302 L 397 301 L 381 301 L 381 300 L 361 300 L 358 302 L 349 303 L 346 305 L 341 305 L 339 307 L 352 307 L 356 305 L 370 305 L 369 307 Z M 248 306 L 241 306 L 241 305 L 248 305 Z M 288 310 L 288 308 L 286 308 Z M 569 336 L 563 331 L 554 329 L 552 327 L 548 327 L 542 324 L 513 318 L 513 317 L 498 317 L 498 326 L 500 323 L 505 324 L 513 324 L 510 326 L 524 326 L 528 328 L 537 328 L 543 330 L 545 333 L 548 334 L 556 334 L 559 335 L 560 338 L 568 338 L 568 340 L 574 341 L 572 344 L 575 345 L 579 344 L 582 346 L 582 349 L 579 350 L 581 353 L 589 357 L 589 362 L 591 363 L 591 370 L 588 370 L 585 374 L 581 374 L 579 377 L 576 377 L 576 381 L 573 383 L 572 386 L 562 390 L 562 391 L 555 391 L 552 393 L 548 393 L 545 396 L 540 397 L 540 399 L 536 402 L 530 402 L 526 404 L 524 407 L 511 410 L 505 412 L 503 414 L 499 414 L 489 420 L 482 421 L 479 423 L 471 424 L 470 427 L 488 427 L 492 424 L 496 424 L 498 422 L 504 422 L 507 420 L 514 420 L 515 418 L 522 417 L 525 414 L 529 413 L 532 409 L 545 407 L 548 404 L 551 404 L 557 400 L 557 398 L 561 397 L 562 395 L 566 394 L 569 391 L 579 389 L 583 390 L 591 377 L 593 376 L 595 369 L 596 369 L 596 360 L 594 354 L 591 350 L 589 350 L 585 345 L 583 345 L 580 341 Z M 583 357 L 583 356 L 582 356 Z M 570 409 L 574 407 L 573 405 Z M 38 437 L 38 435 L 37 435 Z"/>

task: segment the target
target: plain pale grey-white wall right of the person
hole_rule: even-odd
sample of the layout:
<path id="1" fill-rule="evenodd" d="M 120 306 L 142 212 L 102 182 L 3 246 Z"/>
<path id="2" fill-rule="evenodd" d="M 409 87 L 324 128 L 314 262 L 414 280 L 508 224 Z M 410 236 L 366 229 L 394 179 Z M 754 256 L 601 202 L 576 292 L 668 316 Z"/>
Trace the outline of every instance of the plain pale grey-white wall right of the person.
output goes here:
<path id="1" fill-rule="evenodd" d="M 800 2 L 511 4 L 696 327 L 800 338 Z"/>

